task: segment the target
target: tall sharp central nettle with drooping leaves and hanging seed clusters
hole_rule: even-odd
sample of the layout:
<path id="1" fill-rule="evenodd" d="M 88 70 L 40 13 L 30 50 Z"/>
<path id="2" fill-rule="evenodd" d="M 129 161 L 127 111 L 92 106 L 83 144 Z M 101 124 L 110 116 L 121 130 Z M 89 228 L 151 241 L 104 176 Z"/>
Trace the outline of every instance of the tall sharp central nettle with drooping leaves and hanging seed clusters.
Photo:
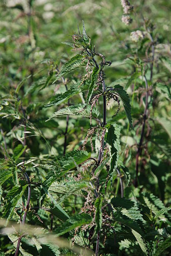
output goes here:
<path id="1" fill-rule="evenodd" d="M 97 120 L 98 125 L 91 127 L 88 129 L 87 136 L 85 137 L 83 143 L 83 149 L 85 148 L 86 143 L 88 142 L 88 138 L 90 138 L 91 142 L 91 149 L 93 151 L 93 142 L 92 137 L 93 134 L 97 134 L 97 139 L 99 141 L 99 152 L 97 159 L 92 159 L 95 162 L 95 166 L 92 169 L 92 177 L 90 177 L 90 184 L 93 188 L 94 195 L 96 197 L 96 201 L 94 203 L 96 207 L 96 211 L 94 211 L 94 216 L 96 224 L 91 225 L 91 232 L 94 228 L 95 232 L 97 233 L 97 241 L 96 241 L 96 255 L 98 255 L 99 251 L 99 244 L 100 244 L 100 231 L 103 227 L 103 222 L 110 223 L 110 217 L 106 213 L 106 207 L 102 205 L 106 201 L 105 193 L 108 185 L 108 181 L 111 181 L 111 186 L 113 181 L 116 179 L 117 176 L 117 166 L 118 166 L 118 158 L 120 153 L 120 128 L 117 124 L 106 123 L 106 107 L 108 105 L 109 100 L 113 99 L 115 102 L 118 103 L 118 110 L 113 116 L 116 116 L 120 110 L 120 99 L 123 102 L 123 106 L 126 111 L 126 115 L 128 117 L 128 121 L 130 123 L 131 128 L 132 125 L 132 118 L 131 118 L 131 105 L 130 99 L 123 87 L 119 84 L 116 84 L 114 87 L 107 87 L 105 83 L 105 73 L 103 71 L 105 66 L 110 66 L 111 62 L 106 61 L 105 56 L 96 52 L 95 46 L 92 46 L 91 38 L 87 35 L 85 31 L 85 26 L 83 23 L 83 33 L 80 33 L 78 27 L 78 34 L 74 34 L 72 36 L 73 42 L 63 42 L 64 44 L 68 44 L 69 46 L 73 47 L 73 51 L 80 51 L 80 54 L 73 56 L 68 62 L 66 62 L 60 69 L 55 81 L 55 83 L 60 77 L 63 77 L 65 74 L 78 69 L 80 67 L 85 67 L 86 74 L 80 79 L 80 82 L 77 84 L 73 84 L 70 90 L 67 90 L 63 95 L 57 97 L 53 102 L 50 102 L 46 106 L 51 105 L 58 105 L 61 102 L 69 99 L 70 97 L 76 95 L 79 92 L 83 92 L 88 90 L 86 103 L 81 105 L 75 106 L 68 106 L 65 109 L 60 109 L 59 111 L 55 112 L 51 117 L 58 117 L 60 115 L 78 115 L 78 116 L 85 116 L 90 118 L 90 124 L 92 124 L 92 118 Z M 101 59 L 100 63 L 96 61 L 96 57 Z M 96 105 L 98 105 L 100 97 L 103 97 L 103 122 L 98 119 L 98 110 Z M 101 135 L 101 138 L 100 138 Z M 81 152 L 81 151 L 80 151 Z M 74 157 L 74 154 L 73 154 Z M 108 165 L 108 163 L 110 163 Z M 92 163 L 89 164 L 90 166 Z M 84 166 L 84 169 L 87 166 Z M 102 188 L 101 183 L 99 182 L 99 175 L 103 168 L 106 166 L 106 170 L 108 172 L 106 183 L 105 183 L 105 191 L 103 191 L 104 187 Z M 117 169 L 118 174 L 120 176 L 120 172 Z M 81 174 L 80 174 L 81 175 Z M 92 183 L 94 180 L 94 184 Z M 122 184 L 122 181 L 121 181 Z M 122 185 L 123 189 L 123 185 Z M 123 196 L 123 191 L 121 192 Z M 92 195 L 89 195 L 91 198 Z M 88 197 L 88 201 L 90 198 Z M 91 198 L 92 200 L 92 198 Z M 93 201 L 91 202 L 93 205 Z M 88 202 L 85 202 L 85 209 L 88 207 Z M 84 211 L 86 211 L 84 209 Z M 90 209 L 90 206 L 87 208 L 88 211 L 93 210 Z M 106 220 L 107 218 L 107 220 Z M 110 224 L 109 227 L 112 228 Z M 92 235 L 89 235 L 89 239 L 91 239 Z"/>

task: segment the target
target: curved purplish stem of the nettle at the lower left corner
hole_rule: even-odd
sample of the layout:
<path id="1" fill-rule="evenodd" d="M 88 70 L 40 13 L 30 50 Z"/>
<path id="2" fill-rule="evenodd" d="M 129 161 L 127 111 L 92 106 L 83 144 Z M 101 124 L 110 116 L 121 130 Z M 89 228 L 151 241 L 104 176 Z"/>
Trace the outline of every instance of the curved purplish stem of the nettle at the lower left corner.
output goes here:
<path id="1" fill-rule="evenodd" d="M 24 212 L 23 221 L 21 223 L 21 226 L 23 226 L 25 224 L 25 219 L 26 219 L 26 216 L 27 216 L 27 212 L 29 210 L 30 197 L 31 197 L 31 184 L 30 184 L 30 179 L 28 177 L 27 172 L 24 173 L 24 176 L 26 177 L 27 182 L 28 182 L 28 199 L 27 199 L 27 204 L 26 204 L 26 207 L 25 207 L 25 212 Z M 15 256 L 18 256 L 19 249 L 20 249 L 21 238 L 22 238 L 22 236 L 20 236 L 18 238 L 18 243 L 17 243 L 17 248 L 16 248 L 16 251 L 15 251 Z"/>

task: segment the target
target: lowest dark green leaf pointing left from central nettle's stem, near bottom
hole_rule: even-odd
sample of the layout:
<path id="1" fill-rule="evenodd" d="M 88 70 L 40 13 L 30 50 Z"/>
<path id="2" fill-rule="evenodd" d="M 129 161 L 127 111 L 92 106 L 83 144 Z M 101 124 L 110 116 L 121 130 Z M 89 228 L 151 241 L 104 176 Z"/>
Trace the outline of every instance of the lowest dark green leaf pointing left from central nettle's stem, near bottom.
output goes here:
<path id="1" fill-rule="evenodd" d="M 62 236 L 63 234 L 67 233 L 70 230 L 73 230 L 74 228 L 80 227 L 85 224 L 90 224 L 91 221 L 92 218 L 88 214 L 76 214 L 70 219 L 66 220 L 66 222 L 60 225 L 58 228 L 56 228 L 54 232 L 56 233 L 56 236 Z"/>

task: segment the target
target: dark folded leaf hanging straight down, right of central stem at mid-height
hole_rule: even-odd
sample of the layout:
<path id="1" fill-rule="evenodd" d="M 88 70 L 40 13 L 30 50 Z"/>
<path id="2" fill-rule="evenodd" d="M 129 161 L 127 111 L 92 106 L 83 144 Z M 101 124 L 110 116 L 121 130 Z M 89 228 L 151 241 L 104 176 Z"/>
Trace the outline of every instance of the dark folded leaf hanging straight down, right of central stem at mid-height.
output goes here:
<path id="1" fill-rule="evenodd" d="M 115 172 L 116 167 L 118 165 L 118 158 L 119 158 L 119 153 L 121 151 L 121 146 L 120 146 L 120 127 L 117 124 L 109 124 L 106 125 L 107 132 L 105 135 L 105 141 L 111 146 L 111 172 L 112 174 Z"/>

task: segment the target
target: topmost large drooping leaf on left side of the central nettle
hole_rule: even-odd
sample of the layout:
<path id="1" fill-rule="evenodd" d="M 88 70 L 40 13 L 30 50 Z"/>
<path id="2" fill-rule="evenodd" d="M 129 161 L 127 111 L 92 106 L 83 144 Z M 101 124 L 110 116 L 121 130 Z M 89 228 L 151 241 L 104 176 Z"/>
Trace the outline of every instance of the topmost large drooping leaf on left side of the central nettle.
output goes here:
<path id="1" fill-rule="evenodd" d="M 82 55 L 77 54 L 73 56 L 69 61 L 67 61 L 60 69 L 60 72 L 58 73 L 55 81 L 53 84 L 62 76 L 65 74 L 73 71 L 74 69 L 78 69 L 79 67 L 86 66 L 87 59 L 83 58 Z"/>

